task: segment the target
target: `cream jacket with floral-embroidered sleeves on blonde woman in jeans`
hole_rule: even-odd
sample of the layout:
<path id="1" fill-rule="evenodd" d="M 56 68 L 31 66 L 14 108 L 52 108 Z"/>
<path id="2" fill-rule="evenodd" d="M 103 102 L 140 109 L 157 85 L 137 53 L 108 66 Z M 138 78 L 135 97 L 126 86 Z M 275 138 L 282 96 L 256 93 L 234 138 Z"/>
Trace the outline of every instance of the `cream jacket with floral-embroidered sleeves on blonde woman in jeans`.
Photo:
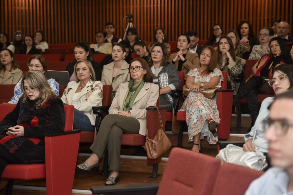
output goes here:
<path id="1" fill-rule="evenodd" d="M 80 81 L 71 81 L 67 84 L 67 88 L 64 90 L 61 100 L 71 105 L 72 98 L 77 88 L 80 85 Z M 93 114 L 93 106 L 101 106 L 103 99 L 103 84 L 101 81 L 88 81 L 86 86 L 81 90 L 77 97 L 77 103 L 74 108 L 83 112 L 91 121 L 92 125 L 96 123 L 96 115 Z"/>

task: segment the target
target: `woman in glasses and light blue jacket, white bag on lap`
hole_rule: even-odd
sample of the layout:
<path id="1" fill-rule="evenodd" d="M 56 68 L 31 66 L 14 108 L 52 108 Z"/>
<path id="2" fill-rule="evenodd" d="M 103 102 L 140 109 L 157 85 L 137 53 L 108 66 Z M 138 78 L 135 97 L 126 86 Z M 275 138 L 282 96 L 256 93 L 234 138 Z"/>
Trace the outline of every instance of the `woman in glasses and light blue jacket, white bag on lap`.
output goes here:
<path id="1" fill-rule="evenodd" d="M 280 95 L 282 93 L 293 90 L 293 65 L 282 65 L 274 69 L 272 79 L 268 81 L 268 84 L 275 92 L 275 95 Z M 265 121 L 268 119 L 270 111 L 268 107 L 275 100 L 275 97 L 268 97 L 263 100 L 260 106 L 258 117 L 255 121 L 254 126 L 251 131 L 244 136 L 245 144 L 243 145 L 243 151 L 245 152 L 268 152 L 268 141 L 265 139 L 265 131 L 267 127 L 265 126 Z M 221 150 L 222 152 L 225 149 Z M 220 153 L 222 153 L 220 151 Z M 220 157 L 218 155 L 217 157 Z M 233 159 L 232 157 L 230 159 Z M 237 158 L 239 159 L 239 158 Z M 229 162 L 233 163 L 233 162 Z"/>

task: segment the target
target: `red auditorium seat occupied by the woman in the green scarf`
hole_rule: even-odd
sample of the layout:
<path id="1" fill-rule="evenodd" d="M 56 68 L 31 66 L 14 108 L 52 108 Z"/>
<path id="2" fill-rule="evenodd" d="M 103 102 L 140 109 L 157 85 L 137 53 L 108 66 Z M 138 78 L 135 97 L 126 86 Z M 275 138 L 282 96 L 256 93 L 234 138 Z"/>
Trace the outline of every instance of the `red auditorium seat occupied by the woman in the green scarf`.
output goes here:
<path id="1" fill-rule="evenodd" d="M 157 107 L 159 107 L 160 104 L 160 97 L 157 100 Z M 156 108 L 146 108 L 147 110 L 147 126 L 148 126 L 148 136 L 150 139 L 153 139 L 156 135 L 158 129 L 160 129 L 160 122 L 159 122 L 159 116 L 158 111 Z M 163 124 L 166 123 L 166 108 L 161 107 L 159 108 L 160 115 L 162 118 Z M 163 131 L 165 131 L 165 126 L 163 126 Z M 121 139 L 121 145 L 122 146 L 144 146 L 146 142 L 146 137 L 142 136 L 140 134 L 123 134 Z M 159 162 L 161 162 L 162 158 L 158 158 L 156 160 L 147 160 L 147 165 L 153 165 L 153 172 L 151 178 L 156 178 L 159 175 L 158 173 L 158 166 Z M 103 163 L 103 174 L 106 174 L 108 170 L 108 151 L 106 150 L 104 155 L 104 163 Z"/>

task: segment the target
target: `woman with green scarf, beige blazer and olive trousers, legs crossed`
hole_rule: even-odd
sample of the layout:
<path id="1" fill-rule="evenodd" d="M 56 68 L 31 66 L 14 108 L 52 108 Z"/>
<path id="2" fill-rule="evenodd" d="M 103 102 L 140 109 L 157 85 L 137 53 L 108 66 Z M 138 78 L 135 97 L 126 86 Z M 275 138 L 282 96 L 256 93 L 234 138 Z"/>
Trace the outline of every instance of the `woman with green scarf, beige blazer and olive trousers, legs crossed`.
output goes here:
<path id="1" fill-rule="evenodd" d="M 151 83 L 151 71 L 144 59 L 133 59 L 129 71 L 132 79 L 129 83 L 120 84 L 109 114 L 103 119 L 97 137 L 90 147 L 93 153 L 84 163 L 77 166 L 86 171 L 97 167 L 107 147 L 111 173 L 106 185 L 115 185 L 119 178 L 122 134 L 145 135 L 145 108 L 156 105 L 159 98 L 159 87 Z"/>

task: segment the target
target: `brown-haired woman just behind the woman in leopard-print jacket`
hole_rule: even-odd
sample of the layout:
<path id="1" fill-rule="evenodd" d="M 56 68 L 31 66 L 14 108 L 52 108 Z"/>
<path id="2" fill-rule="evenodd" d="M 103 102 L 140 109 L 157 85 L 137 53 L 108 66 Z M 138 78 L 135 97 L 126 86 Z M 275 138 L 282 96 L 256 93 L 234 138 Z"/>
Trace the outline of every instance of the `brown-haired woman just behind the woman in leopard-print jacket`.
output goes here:
<path id="1" fill-rule="evenodd" d="M 234 53 L 236 57 L 239 57 L 241 59 L 241 65 L 244 66 L 244 64 L 246 64 L 246 60 L 249 57 L 248 48 L 244 45 L 239 44 L 239 35 L 235 30 L 229 30 L 226 36 L 232 40 Z"/>

